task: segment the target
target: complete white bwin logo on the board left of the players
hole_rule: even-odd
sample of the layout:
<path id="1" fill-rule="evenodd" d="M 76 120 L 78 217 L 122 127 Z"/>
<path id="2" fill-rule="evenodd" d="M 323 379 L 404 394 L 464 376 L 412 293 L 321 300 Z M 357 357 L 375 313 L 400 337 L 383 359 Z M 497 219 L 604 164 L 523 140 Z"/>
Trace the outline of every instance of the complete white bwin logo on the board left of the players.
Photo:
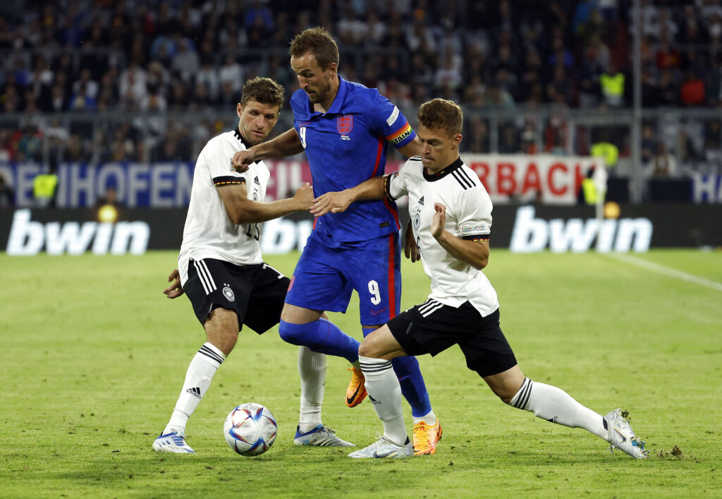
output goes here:
<path id="1" fill-rule="evenodd" d="M 146 222 L 36 222 L 30 210 L 17 210 L 7 241 L 8 255 L 80 255 L 90 249 L 96 255 L 142 255 L 148 247 L 150 226 Z M 92 244 L 91 244 L 92 242 Z"/>

